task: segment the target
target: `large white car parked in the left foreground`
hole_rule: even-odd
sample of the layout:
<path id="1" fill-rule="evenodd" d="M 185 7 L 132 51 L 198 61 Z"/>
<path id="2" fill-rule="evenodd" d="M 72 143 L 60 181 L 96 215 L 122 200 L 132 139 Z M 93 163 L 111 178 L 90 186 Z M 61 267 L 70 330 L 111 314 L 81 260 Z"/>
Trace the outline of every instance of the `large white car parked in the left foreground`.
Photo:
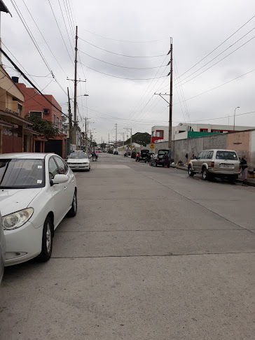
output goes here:
<path id="1" fill-rule="evenodd" d="M 74 173 L 61 157 L 45 153 L 0 155 L 0 208 L 6 237 L 5 266 L 38 257 L 48 261 L 54 230 L 76 215 Z"/>

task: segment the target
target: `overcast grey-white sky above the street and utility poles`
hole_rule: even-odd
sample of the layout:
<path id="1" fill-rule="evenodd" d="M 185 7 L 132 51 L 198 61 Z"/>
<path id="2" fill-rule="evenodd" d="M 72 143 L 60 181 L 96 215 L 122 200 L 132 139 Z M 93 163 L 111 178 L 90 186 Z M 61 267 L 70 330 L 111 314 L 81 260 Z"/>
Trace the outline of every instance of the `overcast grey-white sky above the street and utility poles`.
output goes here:
<path id="1" fill-rule="evenodd" d="M 3 50 L 67 113 L 74 97 L 74 27 L 78 26 L 78 120 L 100 143 L 125 128 L 167 125 L 170 37 L 173 125 L 206 122 L 255 126 L 254 0 L 4 0 Z M 19 15 L 18 15 L 18 13 Z M 27 27 L 39 51 L 29 36 Z M 14 71 L 6 58 L 3 64 Z M 53 71 L 55 80 L 50 75 Z M 57 81 L 56 81 L 57 80 Z M 20 82 L 23 82 L 22 77 Z M 165 97 L 169 100 L 169 97 Z M 246 114 L 247 113 L 247 114 Z M 228 118 L 228 116 L 230 116 Z M 215 119 L 220 118 L 220 119 Z"/>

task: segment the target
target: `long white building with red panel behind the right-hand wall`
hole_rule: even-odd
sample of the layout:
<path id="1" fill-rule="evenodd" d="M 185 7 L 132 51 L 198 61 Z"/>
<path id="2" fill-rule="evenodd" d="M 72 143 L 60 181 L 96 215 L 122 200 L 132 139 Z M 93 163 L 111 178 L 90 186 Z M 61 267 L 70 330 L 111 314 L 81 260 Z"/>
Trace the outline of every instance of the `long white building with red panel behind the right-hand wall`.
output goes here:
<path id="1" fill-rule="evenodd" d="M 235 126 L 236 132 L 251 129 L 255 129 L 255 127 Z M 188 132 L 201 132 L 200 135 L 208 133 L 224 134 L 233 132 L 233 125 L 179 123 L 177 127 L 172 127 L 172 141 L 188 138 Z M 168 141 L 168 126 L 155 125 L 151 127 L 151 143 L 157 143 L 157 141 Z"/>

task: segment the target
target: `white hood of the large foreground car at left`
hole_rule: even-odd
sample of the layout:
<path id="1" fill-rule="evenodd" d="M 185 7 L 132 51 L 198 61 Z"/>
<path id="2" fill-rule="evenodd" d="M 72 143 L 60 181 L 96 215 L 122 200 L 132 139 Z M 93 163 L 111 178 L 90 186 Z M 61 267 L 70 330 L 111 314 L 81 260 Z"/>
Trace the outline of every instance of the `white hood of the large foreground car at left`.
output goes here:
<path id="1" fill-rule="evenodd" d="M 32 189 L 1 189 L 0 207 L 1 215 L 5 216 L 15 211 L 28 208 L 31 201 L 41 192 L 41 187 Z"/>

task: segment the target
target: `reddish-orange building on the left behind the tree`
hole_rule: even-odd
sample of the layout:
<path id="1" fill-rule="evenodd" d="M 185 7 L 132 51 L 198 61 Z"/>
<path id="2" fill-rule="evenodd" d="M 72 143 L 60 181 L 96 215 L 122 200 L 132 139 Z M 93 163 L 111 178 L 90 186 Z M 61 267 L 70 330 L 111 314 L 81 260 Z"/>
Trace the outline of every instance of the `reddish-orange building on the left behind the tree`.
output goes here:
<path id="1" fill-rule="evenodd" d="M 13 81 L 18 86 L 25 97 L 23 109 L 25 115 L 36 115 L 43 119 L 49 120 L 57 129 L 59 129 L 60 136 L 55 139 L 45 141 L 42 146 L 41 141 L 35 139 L 35 152 L 56 153 L 63 158 L 67 157 L 67 136 L 62 134 L 62 108 L 57 103 L 53 95 L 45 94 L 45 97 L 50 101 L 50 104 L 34 87 L 26 87 L 25 84 L 18 83 L 18 77 L 13 77 Z M 53 106 L 56 106 L 56 108 Z M 60 110 L 58 111 L 57 108 Z M 42 150 L 43 148 L 43 150 Z"/>

